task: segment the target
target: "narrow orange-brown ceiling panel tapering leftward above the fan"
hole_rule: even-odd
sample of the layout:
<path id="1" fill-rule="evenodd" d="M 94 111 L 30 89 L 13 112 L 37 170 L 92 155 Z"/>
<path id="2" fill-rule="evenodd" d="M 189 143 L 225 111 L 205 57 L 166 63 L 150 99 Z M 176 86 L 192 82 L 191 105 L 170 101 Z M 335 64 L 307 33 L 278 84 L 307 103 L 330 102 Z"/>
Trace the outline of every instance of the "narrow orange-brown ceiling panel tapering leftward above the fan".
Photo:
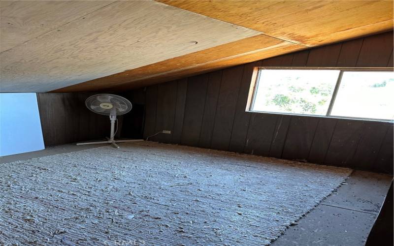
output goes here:
<path id="1" fill-rule="evenodd" d="M 129 90 L 305 48 L 261 34 L 53 92 Z"/>

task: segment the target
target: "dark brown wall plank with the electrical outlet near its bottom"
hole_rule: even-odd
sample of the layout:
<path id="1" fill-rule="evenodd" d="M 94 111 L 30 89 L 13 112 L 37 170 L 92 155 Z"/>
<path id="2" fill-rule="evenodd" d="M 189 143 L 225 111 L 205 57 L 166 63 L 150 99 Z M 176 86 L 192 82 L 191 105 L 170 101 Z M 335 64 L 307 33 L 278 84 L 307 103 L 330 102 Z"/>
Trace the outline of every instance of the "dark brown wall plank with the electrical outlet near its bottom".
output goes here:
<path id="1" fill-rule="evenodd" d="M 177 81 L 159 85 L 155 132 L 173 130 L 177 87 Z M 171 137 L 170 134 L 160 133 L 155 139 L 159 142 L 170 143 Z"/>

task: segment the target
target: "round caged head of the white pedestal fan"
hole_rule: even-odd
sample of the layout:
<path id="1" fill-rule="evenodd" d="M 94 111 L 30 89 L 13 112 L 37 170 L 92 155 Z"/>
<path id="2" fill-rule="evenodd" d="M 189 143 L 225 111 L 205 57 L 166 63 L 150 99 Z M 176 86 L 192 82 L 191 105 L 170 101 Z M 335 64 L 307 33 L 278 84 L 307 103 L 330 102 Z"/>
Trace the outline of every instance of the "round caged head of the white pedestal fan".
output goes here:
<path id="1" fill-rule="evenodd" d="M 92 95 L 86 99 L 85 105 L 100 115 L 124 115 L 132 108 L 128 99 L 114 94 Z"/>

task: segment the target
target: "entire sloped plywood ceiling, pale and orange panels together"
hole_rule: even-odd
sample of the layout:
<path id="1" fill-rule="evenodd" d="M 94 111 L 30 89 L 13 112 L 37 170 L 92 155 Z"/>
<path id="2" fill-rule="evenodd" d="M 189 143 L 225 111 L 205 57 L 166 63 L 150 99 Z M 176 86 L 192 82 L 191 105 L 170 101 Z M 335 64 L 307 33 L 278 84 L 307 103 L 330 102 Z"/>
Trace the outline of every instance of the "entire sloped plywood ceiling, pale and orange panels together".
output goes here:
<path id="1" fill-rule="evenodd" d="M 0 1 L 1 92 L 128 90 L 393 29 L 393 1 Z"/>

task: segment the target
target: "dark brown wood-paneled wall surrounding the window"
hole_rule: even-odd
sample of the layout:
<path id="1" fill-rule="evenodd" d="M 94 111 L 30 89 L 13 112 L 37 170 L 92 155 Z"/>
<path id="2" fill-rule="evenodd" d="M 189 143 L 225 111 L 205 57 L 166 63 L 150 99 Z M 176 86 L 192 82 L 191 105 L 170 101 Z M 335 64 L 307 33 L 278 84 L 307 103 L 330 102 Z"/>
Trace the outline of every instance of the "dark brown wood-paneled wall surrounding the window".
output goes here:
<path id="1" fill-rule="evenodd" d="M 392 35 L 388 32 L 377 35 L 379 38 L 366 37 L 366 42 L 359 38 L 313 48 L 178 82 L 176 105 L 170 103 L 175 107 L 170 142 L 392 172 L 388 163 L 393 160 L 393 148 L 387 147 L 393 146 L 392 135 L 386 134 L 382 140 L 384 129 L 392 123 L 245 112 L 254 66 L 360 66 L 367 54 L 375 59 L 375 52 L 385 53 L 382 57 L 387 65 L 393 47 L 387 51 L 378 46 L 386 42 L 382 38 Z M 361 62 L 357 62 L 359 57 Z M 375 130 L 364 131 L 369 124 Z M 379 142 L 383 142 L 381 147 Z"/>

